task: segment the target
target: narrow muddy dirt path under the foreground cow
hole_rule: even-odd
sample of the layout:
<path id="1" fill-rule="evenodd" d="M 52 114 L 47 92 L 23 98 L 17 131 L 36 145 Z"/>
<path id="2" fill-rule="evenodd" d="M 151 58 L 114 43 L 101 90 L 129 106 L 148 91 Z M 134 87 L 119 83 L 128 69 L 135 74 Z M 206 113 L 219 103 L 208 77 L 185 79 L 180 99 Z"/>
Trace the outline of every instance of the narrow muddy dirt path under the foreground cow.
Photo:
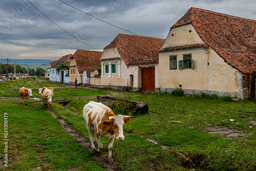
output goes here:
<path id="1" fill-rule="evenodd" d="M 78 130 L 75 130 L 73 127 L 69 126 L 69 124 L 64 119 L 59 119 L 55 113 L 52 111 L 48 111 L 52 117 L 56 118 L 57 121 L 61 124 L 63 129 L 72 136 L 79 144 L 81 144 L 84 148 L 90 151 L 93 154 L 93 161 L 99 163 L 102 168 L 108 171 L 112 170 L 121 170 L 119 167 L 118 162 L 110 163 L 108 160 L 109 153 L 108 152 L 101 152 L 98 153 L 97 151 L 92 151 L 91 141 L 84 138 Z M 97 146 L 97 144 L 95 144 Z"/>

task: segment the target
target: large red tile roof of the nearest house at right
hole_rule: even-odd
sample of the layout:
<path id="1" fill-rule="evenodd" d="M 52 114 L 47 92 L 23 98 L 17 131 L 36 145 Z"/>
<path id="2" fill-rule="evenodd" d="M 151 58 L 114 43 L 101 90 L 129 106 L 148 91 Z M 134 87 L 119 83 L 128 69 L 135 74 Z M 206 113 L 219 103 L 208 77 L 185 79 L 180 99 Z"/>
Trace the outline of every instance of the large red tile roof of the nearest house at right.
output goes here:
<path id="1" fill-rule="evenodd" d="M 256 20 L 190 8 L 171 29 L 188 24 L 229 65 L 242 73 L 256 71 Z"/>

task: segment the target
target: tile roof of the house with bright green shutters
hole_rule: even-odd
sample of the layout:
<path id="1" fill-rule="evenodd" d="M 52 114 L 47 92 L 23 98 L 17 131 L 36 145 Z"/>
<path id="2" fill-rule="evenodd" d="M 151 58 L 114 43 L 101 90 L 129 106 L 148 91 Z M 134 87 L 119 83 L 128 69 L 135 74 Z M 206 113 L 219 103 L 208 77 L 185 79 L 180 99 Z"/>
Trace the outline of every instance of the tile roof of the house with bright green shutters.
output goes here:
<path id="1" fill-rule="evenodd" d="M 158 63 L 157 51 L 163 42 L 161 38 L 118 34 L 104 49 L 116 47 L 126 66 L 146 65 Z"/>

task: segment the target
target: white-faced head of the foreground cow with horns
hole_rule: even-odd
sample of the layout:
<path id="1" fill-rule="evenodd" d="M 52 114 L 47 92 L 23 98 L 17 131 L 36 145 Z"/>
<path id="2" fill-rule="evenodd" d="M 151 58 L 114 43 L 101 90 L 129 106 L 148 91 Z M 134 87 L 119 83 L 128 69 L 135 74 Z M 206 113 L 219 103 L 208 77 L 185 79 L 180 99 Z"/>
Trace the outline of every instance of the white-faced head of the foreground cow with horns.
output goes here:
<path id="1" fill-rule="evenodd" d="M 131 117 L 133 116 L 115 115 L 115 116 L 109 117 L 109 120 L 103 121 L 102 124 L 111 125 L 112 129 L 116 134 L 116 139 L 118 139 L 119 141 L 123 141 L 124 140 L 123 127 L 125 123 L 130 120 Z"/>

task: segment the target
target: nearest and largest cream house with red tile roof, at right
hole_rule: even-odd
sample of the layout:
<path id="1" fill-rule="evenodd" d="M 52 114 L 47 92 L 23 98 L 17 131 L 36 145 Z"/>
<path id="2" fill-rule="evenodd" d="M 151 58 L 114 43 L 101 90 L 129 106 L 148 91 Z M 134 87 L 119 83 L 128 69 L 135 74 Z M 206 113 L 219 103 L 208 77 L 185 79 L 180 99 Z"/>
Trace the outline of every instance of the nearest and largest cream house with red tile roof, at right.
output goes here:
<path id="1" fill-rule="evenodd" d="M 160 91 L 255 98 L 255 32 L 255 20 L 190 8 L 158 51 Z"/>

